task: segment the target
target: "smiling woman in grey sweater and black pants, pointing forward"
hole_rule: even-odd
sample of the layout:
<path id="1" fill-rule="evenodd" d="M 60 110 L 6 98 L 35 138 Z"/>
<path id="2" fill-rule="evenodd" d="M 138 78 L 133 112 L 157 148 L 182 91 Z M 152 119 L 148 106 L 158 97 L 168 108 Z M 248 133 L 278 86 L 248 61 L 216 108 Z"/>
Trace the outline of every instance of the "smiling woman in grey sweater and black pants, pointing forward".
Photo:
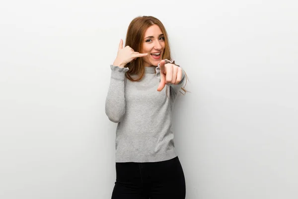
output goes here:
<path id="1" fill-rule="evenodd" d="M 184 173 L 174 148 L 171 110 L 186 83 L 171 60 L 166 30 L 155 17 L 128 27 L 111 65 L 105 103 L 117 122 L 112 199 L 185 199 Z M 165 88 L 166 87 L 166 88 Z"/>

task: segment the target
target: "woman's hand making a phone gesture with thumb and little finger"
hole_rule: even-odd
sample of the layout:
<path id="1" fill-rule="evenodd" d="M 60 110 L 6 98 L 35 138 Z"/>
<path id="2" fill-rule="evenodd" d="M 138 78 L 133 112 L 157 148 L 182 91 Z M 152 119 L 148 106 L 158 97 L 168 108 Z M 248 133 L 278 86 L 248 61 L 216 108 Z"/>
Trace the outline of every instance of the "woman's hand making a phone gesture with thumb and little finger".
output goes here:
<path id="1" fill-rule="evenodd" d="M 121 39 L 119 43 L 117 57 L 113 65 L 119 66 L 120 68 L 124 68 L 124 66 L 130 63 L 132 60 L 137 59 L 138 57 L 145 57 L 147 55 L 148 53 L 135 52 L 134 49 L 132 49 L 129 46 L 125 46 L 123 48 L 123 40 Z"/>

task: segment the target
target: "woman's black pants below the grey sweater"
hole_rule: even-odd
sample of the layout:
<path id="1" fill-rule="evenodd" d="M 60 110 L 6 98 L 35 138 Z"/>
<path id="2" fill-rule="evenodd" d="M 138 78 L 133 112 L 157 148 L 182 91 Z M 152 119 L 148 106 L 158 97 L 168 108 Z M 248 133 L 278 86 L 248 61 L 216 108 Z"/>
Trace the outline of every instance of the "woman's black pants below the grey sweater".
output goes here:
<path id="1" fill-rule="evenodd" d="M 162 162 L 116 163 L 112 199 L 185 199 L 178 157 Z"/>

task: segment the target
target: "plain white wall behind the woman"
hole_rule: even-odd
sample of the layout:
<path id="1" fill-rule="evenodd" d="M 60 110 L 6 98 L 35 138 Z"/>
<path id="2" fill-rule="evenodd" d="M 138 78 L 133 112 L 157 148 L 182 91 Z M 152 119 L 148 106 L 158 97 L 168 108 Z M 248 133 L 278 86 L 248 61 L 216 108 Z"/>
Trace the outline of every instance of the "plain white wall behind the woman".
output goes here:
<path id="1" fill-rule="evenodd" d="M 130 21 L 153 15 L 190 80 L 174 109 L 186 198 L 297 199 L 297 10 L 295 0 L 1 2 L 0 198 L 111 197 L 109 65 Z"/>

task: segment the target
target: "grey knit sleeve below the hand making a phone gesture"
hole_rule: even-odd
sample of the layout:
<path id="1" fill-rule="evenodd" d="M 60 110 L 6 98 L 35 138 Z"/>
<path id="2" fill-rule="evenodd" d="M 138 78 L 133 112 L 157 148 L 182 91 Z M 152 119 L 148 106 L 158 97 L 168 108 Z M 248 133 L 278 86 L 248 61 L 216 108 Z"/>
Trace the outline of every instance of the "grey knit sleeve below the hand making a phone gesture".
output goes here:
<path id="1" fill-rule="evenodd" d="M 108 118 L 118 123 L 125 114 L 125 73 L 129 68 L 110 65 L 111 79 L 105 101 L 105 112 Z"/>

